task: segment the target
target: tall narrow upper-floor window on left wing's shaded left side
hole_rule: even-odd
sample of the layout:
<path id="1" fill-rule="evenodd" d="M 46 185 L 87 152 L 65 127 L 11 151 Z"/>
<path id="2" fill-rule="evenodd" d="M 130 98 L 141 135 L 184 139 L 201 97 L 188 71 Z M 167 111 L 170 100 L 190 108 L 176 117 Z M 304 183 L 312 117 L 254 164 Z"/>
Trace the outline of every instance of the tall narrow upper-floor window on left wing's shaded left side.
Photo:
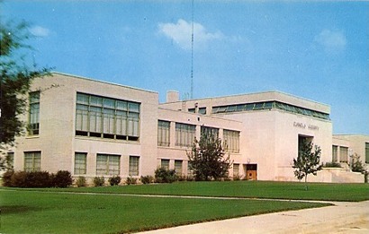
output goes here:
<path id="1" fill-rule="evenodd" d="M 30 116 L 28 134 L 40 133 L 40 91 L 30 92 Z"/>

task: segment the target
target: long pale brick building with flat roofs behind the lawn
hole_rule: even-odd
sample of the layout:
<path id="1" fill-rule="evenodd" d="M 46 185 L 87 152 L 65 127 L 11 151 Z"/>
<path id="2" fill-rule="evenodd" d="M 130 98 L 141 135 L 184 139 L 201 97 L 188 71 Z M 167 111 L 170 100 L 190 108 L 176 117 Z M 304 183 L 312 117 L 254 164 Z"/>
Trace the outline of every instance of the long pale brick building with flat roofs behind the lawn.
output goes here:
<path id="1" fill-rule="evenodd" d="M 295 180 L 293 158 L 306 138 L 320 146 L 322 162 L 348 163 L 338 147 L 368 157 L 368 136 L 332 137 L 328 105 L 279 91 L 200 100 L 168 91 L 159 103 L 155 91 L 53 73 L 32 82 L 28 106 L 27 134 L 8 152 L 15 170 L 139 178 L 166 167 L 187 176 L 186 152 L 202 131 L 227 145 L 229 177 Z"/>

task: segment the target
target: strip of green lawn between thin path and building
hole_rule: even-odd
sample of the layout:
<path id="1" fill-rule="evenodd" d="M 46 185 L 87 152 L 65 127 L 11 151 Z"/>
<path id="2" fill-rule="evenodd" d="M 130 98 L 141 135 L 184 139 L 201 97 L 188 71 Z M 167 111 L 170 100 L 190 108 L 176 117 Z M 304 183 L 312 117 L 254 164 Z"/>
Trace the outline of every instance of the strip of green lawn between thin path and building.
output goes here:
<path id="1" fill-rule="evenodd" d="M 52 190 L 51 190 L 52 191 Z M 67 188 L 66 191 L 142 194 L 202 195 L 294 200 L 359 202 L 369 200 L 369 184 L 327 184 L 271 181 L 178 182 L 139 186 Z"/>

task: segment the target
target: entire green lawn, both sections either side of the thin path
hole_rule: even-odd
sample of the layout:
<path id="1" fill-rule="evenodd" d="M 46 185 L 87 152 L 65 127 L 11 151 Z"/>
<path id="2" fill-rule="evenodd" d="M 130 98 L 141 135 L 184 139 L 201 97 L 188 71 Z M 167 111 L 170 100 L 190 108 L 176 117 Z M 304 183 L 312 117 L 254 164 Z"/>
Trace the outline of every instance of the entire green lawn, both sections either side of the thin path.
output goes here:
<path id="1" fill-rule="evenodd" d="M 72 192 L 72 193 L 59 193 Z M 369 200 L 368 184 L 309 184 L 266 181 L 184 182 L 141 186 L 8 189 L 1 191 L 2 233 L 121 233 L 329 204 L 142 197 L 201 195 L 325 201 Z M 94 193 L 94 194 L 87 194 Z"/>

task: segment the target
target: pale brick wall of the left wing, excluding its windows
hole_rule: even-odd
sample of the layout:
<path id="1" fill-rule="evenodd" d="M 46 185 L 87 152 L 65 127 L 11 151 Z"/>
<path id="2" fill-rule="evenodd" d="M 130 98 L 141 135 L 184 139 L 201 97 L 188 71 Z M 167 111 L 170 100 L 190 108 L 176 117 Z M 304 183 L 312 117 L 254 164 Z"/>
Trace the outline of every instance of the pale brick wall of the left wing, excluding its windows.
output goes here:
<path id="1" fill-rule="evenodd" d="M 140 157 L 140 174 L 152 172 L 151 165 L 156 163 L 157 158 L 156 92 L 66 74 L 36 79 L 31 91 L 40 91 L 40 134 L 16 140 L 14 169 L 23 169 L 23 152 L 40 151 L 41 169 L 49 172 L 67 169 L 73 173 L 75 152 L 87 153 L 87 177 L 95 176 L 96 153 L 121 155 L 122 177 L 128 176 L 130 155 Z M 139 102 L 139 142 L 75 136 L 76 92 Z"/>

